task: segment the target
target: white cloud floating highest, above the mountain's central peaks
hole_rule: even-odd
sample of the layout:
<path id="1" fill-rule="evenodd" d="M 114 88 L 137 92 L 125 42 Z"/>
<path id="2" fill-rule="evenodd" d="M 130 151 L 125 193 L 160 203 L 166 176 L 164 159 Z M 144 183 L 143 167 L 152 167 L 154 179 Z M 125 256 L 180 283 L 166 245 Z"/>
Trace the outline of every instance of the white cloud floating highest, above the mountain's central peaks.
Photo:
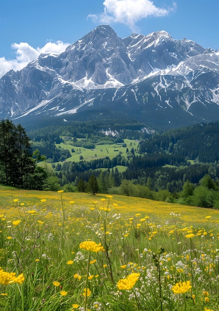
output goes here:
<path id="1" fill-rule="evenodd" d="M 94 21 L 101 23 L 122 23 L 131 30 L 136 29 L 136 22 L 148 16 L 165 16 L 176 8 L 161 8 L 154 5 L 150 0 L 105 0 L 104 12 L 101 14 L 89 14 Z"/>

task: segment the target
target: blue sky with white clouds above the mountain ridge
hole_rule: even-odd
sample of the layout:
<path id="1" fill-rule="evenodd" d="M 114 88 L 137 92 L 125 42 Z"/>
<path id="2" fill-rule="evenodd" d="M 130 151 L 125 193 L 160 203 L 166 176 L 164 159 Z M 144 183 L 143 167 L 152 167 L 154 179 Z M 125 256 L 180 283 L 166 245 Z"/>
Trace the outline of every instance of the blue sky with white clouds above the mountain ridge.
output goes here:
<path id="1" fill-rule="evenodd" d="M 121 38 L 165 30 L 219 50 L 219 0 L 4 0 L 0 5 L 0 77 L 41 52 L 62 52 L 101 24 Z"/>

